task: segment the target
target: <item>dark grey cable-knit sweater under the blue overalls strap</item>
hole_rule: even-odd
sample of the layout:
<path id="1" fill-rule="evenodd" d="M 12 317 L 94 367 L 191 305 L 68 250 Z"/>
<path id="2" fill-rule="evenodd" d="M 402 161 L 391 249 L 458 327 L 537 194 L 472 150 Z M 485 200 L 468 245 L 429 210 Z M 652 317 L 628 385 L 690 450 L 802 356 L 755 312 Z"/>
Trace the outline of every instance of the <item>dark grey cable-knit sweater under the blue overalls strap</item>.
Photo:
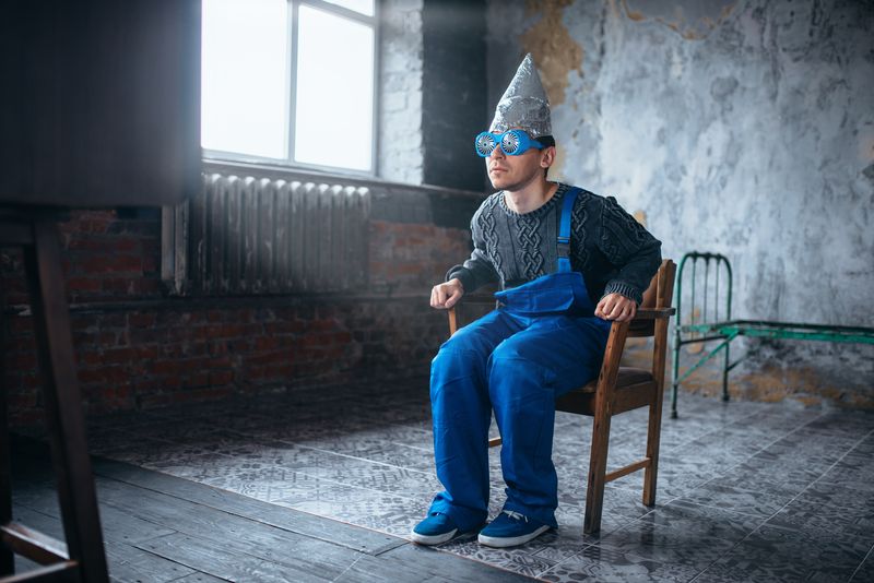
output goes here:
<path id="1" fill-rule="evenodd" d="M 503 192 L 488 197 L 471 219 L 470 259 L 451 267 L 446 279 L 458 277 L 471 293 L 493 282 L 506 289 L 555 273 L 555 242 L 568 190 L 559 183 L 546 204 L 525 214 L 511 211 Z M 570 230 L 570 265 L 582 273 L 592 301 L 618 293 L 640 304 L 661 264 L 661 242 L 614 198 L 587 190 L 574 204 Z"/>

